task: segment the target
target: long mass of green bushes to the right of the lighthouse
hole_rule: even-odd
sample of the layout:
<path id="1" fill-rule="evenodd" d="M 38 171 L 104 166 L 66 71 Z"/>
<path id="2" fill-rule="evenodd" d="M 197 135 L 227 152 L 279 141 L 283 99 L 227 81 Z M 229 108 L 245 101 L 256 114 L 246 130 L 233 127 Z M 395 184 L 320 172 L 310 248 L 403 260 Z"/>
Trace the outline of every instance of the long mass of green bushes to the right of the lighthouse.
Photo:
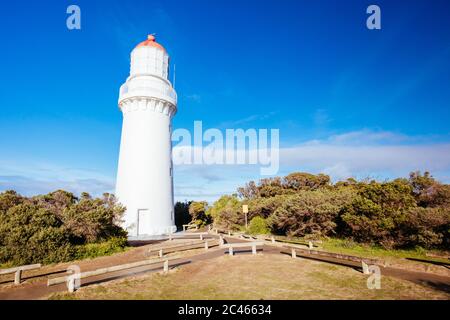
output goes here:
<path id="1" fill-rule="evenodd" d="M 215 224 L 242 228 L 241 203 L 246 203 L 249 219 L 266 219 L 269 229 L 281 235 L 450 250 L 450 185 L 428 172 L 413 172 L 409 179 L 349 178 L 335 184 L 323 174 L 292 173 L 250 181 L 238 194 L 213 205 Z"/>

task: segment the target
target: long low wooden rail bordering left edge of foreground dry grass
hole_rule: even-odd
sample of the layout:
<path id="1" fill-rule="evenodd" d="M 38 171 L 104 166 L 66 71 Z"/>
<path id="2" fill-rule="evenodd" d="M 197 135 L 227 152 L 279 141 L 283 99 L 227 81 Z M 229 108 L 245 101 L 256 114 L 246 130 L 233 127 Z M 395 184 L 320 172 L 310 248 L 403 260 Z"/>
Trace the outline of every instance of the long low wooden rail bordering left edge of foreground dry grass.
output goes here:
<path id="1" fill-rule="evenodd" d="M 97 269 L 97 270 L 93 270 L 93 271 L 86 271 L 86 272 L 82 272 L 79 274 L 71 274 L 68 276 L 48 279 L 47 286 L 57 285 L 57 284 L 61 284 L 61 283 L 67 283 L 69 292 L 74 292 L 76 280 L 84 279 L 84 278 L 88 278 L 88 277 L 94 277 L 94 276 L 111 273 L 111 272 L 117 272 L 117 271 L 142 267 L 142 266 L 159 264 L 159 263 L 163 263 L 163 271 L 164 272 L 167 272 L 169 270 L 169 260 L 167 260 L 167 259 L 164 261 L 163 260 L 158 260 L 158 261 L 143 260 L 143 261 L 138 261 L 138 262 L 133 262 L 133 263 L 121 264 L 121 265 L 117 265 L 117 266 L 113 266 L 113 267 L 101 268 L 101 269 Z"/>

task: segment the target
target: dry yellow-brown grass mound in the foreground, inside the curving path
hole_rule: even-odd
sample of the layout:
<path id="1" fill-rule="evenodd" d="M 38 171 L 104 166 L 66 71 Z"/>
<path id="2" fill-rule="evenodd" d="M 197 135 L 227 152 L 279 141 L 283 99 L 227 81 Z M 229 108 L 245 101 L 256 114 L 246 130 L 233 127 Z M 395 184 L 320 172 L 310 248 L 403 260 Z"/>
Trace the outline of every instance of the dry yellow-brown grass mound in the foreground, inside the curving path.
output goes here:
<path id="1" fill-rule="evenodd" d="M 367 288 L 354 269 L 286 255 L 219 256 L 138 277 L 57 293 L 51 299 L 450 299 L 432 287 L 391 277 Z"/>

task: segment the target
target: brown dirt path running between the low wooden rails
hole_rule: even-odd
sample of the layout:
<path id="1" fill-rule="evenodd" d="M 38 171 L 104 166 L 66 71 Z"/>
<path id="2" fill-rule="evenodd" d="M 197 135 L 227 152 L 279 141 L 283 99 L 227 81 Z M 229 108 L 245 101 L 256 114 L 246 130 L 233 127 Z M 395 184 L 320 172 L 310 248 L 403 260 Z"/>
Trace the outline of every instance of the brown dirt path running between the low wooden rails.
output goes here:
<path id="1" fill-rule="evenodd" d="M 236 239 L 231 237 L 225 237 L 228 243 L 242 242 L 246 241 L 243 239 Z M 179 241 L 179 240 L 173 240 Z M 181 242 L 181 241 L 180 241 Z M 67 266 L 72 264 L 77 264 L 80 266 L 82 272 L 95 270 L 98 268 L 109 267 L 118 264 L 130 263 L 135 261 L 140 261 L 145 259 L 145 252 L 149 248 L 155 247 L 157 244 L 144 245 L 142 247 L 133 248 L 127 252 L 123 252 L 120 254 L 116 254 L 109 257 L 101 257 L 93 260 L 83 260 L 78 262 L 59 264 L 56 266 L 46 267 L 45 270 L 41 270 L 41 273 L 44 271 L 45 274 L 38 276 L 30 276 L 28 279 L 33 279 L 33 281 L 27 281 L 27 278 L 23 284 L 20 286 L 8 286 L 8 287 L 0 287 L 0 300 L 6 299 L 46 299 L 50 294 L 54 292 L 66 291 L 66 285 L 60 284 L 56 286 L 47 287 L 47 277 L 50 274 L 64 274 Z M 259 250 L 261 251 L 261 250 Z M 265 254 L 274 254 L 280 255 L 281 248 L 277 246 L 272 246 L 270 244 L 265 244 L 263 252 Z M 194 253 L 191 256 L 180 257 L 177 259 L 171 260 L 171 268 L 182 266 L 185 264 L 191 264 L 202 260 L 214 259 L 224 254 L 227 254 L 228 250 L 224 248 L 212 248 L 204 253 Z M 239 248 L 235 250 L 235 254 L 249 254 L 251 253 L 251 248 Z M 124 277 L 129 277 L 133 275 L 139 275 L 148 272 L 160 272 L 162 271 L 162 263 L 161 265 L 151 265 L 151 266 L 143 266 L 138 268 L 133 268 L 124 271 L 118 271 L 109 273 L 106 275 L 90 277 L 88 279 L 82 280 L 82 286 L 87 286 L 95 283 L 110 281 L 114 279 L 120 279 Z M 409 270 L 396 269 L 392 267 L 381 267 L 382 276 L 395 277 L 403 280 L 408 280 L 420 285 L 426 285 L 433 287 L 435 289 L 450 292 L 450 277 L 425 273 L 425 272 L 414 272 Z M 0 282 L 1 284 L 2 282 Z"/>

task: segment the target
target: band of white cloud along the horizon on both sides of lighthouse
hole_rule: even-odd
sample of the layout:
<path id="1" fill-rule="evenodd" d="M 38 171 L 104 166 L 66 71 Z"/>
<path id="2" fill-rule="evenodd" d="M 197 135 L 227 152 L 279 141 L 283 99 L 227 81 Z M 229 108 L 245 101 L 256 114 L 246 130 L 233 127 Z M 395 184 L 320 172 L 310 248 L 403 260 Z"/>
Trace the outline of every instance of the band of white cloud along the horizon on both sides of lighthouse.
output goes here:
<path id="1" fill-rule="evenodd" d="M 450 143 L 432 142 L 436 140 L 370 130 L 333 135 L 281 148 L 279 175 L 306 171 L 326 173 L 333 180 L 367 176 L 387 179 L 406 177 L 414 170 L 430 170 L 437 179 L 448 183 Z M 33 195 L 66 189 L 101 195 L 114 191 L 114 174 L 49 163 L 0 162 L 0 191 L 14 189 Z M 214 201 L 260 178 L 259 165 L 179 165 L 174 168 L 175 199 Z"/>

